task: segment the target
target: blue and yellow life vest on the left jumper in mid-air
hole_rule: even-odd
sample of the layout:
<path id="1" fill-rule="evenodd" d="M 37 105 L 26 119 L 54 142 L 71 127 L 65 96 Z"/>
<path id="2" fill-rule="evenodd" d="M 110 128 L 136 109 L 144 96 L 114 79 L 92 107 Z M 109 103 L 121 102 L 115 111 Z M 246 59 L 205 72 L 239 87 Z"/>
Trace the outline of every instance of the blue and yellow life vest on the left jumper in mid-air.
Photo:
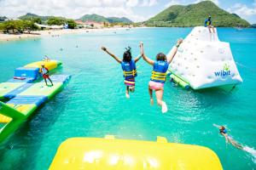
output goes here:
<path id="1" fill-rule="evenodd" d="M 135 61 L 131 59 L 130 62 L 121 62 L 122 69 L 124 71 L 124 77 L 125 78 L 134 78 L 137 77 L 137 70 L 136 70 L 136 65 Z"/>

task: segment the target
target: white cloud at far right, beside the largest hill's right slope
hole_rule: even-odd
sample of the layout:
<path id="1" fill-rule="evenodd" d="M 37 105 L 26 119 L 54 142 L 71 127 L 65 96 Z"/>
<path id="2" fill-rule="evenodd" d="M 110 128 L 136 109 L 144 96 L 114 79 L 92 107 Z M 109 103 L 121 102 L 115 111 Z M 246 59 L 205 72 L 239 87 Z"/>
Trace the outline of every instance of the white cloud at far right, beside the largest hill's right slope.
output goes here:
<path id="1" fill-rule="evenodd" d="M 227 10 L 230 13 L 238 14 L 241 17 L 252 16 L 252 15 L 256 14 L 256 1 L 254 1 L 253 6 L 251 6 L 250 8 L 247 7 L 247 5 L 245 5 L 245 4 L 235 3 L 230 8 L 227 8 Z"/>

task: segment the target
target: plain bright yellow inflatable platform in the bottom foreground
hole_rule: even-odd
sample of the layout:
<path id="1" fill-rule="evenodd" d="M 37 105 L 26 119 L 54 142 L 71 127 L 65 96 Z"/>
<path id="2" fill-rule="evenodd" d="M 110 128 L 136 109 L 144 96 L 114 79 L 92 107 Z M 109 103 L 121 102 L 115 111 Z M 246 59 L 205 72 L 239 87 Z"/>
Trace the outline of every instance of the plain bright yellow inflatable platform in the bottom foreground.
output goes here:
<path id="1" fill-rule="evenodd" d="M 72 138 L 64 141 L 49 169 L 222 169 L 210 149 L 190 144 L 114 139 Z"/>

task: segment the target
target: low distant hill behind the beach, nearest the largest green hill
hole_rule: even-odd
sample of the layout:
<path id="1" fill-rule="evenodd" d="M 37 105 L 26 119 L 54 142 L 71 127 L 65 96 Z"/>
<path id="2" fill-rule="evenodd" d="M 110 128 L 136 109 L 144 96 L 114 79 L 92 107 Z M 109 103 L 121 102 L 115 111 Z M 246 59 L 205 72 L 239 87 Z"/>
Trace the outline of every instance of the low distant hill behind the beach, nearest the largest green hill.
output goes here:
<path id="1" fill-rule="evenodd" d="M 125 23 L 125 24 L 131 24 L 133 23 L 131 20 L 122 17 L 122 18 L 118 18 L 118 17 L 104 17 L 102 15 L 98 15 L 98 14 L 84 14 L 84 16 L 82 16 L 81 18 L 79 18 L 78 20 L 82 20 L 82 21 L 96 21 L 96 22 L 109 22 L 109 23 Z"/>

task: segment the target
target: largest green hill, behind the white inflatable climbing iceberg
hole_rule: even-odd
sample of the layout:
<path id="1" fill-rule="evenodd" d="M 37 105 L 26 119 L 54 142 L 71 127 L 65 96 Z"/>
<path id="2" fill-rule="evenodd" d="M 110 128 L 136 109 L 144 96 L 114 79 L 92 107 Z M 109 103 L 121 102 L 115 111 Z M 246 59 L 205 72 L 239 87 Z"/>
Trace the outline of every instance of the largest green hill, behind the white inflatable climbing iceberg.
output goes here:
<path id="1" fill-rule="evenodd" d="M 212 25 L 220 27 L 250 27 L 247 20 L 242 20 L 237 14 L 230 14 L 211 1 L 190 4 L 187 6 L 173 5 L 160 14 L 145 21 L 146 26 L 204 26 L 204 20 L 212 16 Z"/>

